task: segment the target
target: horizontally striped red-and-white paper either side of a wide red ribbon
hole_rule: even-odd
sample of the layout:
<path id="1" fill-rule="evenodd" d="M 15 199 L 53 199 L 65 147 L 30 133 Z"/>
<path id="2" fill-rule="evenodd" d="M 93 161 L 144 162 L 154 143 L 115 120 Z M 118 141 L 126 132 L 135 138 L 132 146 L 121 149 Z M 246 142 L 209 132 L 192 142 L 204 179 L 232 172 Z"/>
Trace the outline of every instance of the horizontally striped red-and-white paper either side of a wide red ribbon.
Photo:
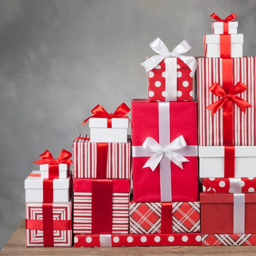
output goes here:
<path id="1" fill-rule="evenodd" d="M 129 193 L 113 193 L 112 216 L 112 233 L 128 234 Z M 91 192 L 74 192 L 73 230 L 75 234 L 92 233 Z"/>

